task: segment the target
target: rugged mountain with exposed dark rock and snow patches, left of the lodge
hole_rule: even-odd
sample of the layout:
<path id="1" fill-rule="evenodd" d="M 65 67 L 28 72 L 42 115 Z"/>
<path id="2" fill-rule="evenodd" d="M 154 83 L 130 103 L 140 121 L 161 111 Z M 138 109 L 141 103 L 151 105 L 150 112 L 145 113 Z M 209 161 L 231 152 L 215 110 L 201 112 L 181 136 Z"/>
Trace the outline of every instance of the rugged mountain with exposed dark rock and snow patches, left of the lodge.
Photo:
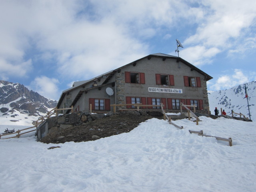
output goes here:
<path id="1" fill-rule="evenodd" d="M 0 124 L 32 125 L 57 105 L 24 85 L 0 80 Z"/>

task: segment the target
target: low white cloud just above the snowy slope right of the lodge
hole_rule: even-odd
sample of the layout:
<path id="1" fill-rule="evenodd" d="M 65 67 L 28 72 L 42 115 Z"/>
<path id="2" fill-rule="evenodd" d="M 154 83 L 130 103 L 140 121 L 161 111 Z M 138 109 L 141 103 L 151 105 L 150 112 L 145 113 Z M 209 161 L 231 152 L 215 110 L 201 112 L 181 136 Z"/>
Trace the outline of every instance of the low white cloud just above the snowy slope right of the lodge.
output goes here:
<path id="1" fill-rule="evenodd" d="M 226 75 L 220 76 L 215 82 L 215 84 L 210 83 L 209 84 L 210 89 L 211 90 L 229 89 L 236 85 L 247 83 L 254 80 L 252 78 L 248 78 L 248 76 L 246 76 L 241 69 L 234 69 L 233 71 L 234 73 L 231 75 L 226 74 Z"/>

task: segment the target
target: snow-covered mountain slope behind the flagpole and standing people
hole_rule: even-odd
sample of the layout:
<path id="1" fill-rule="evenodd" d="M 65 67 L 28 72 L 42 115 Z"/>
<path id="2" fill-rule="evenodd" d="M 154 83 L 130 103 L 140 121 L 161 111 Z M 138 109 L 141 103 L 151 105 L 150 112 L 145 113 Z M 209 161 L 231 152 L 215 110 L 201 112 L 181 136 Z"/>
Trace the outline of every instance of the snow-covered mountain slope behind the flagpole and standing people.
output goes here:
<path id="1" fill-rule="evenodd" d="M 256 120 L 256 81 L 246 83 L 248 93 L 248 103 L 251 119 Z M 242 113 L 249 118 L 247 98 L 245 98 L 244 84 L 234 86 L 227 90 L 208 92 L 210 111 L 214 114 L 215 107 L 224 109 L 227 115 L 231 116 L 231 110 L 236 113 Z M 238 116 L 235 114 L 234 116 Z"/>

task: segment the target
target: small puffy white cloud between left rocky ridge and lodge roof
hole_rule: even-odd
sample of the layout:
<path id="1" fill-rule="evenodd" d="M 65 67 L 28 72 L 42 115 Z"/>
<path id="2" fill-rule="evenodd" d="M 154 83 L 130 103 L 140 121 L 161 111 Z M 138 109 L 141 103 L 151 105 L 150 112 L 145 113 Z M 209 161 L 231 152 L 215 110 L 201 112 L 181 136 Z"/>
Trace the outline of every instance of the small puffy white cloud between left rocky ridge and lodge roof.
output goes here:
<path id="1" fill-rule="evenodd" d="M 60 96 L 58 84 L 58 79 L 40 76 L 35 78 L 29 87 L 46 98 L 58 100 Z"/>

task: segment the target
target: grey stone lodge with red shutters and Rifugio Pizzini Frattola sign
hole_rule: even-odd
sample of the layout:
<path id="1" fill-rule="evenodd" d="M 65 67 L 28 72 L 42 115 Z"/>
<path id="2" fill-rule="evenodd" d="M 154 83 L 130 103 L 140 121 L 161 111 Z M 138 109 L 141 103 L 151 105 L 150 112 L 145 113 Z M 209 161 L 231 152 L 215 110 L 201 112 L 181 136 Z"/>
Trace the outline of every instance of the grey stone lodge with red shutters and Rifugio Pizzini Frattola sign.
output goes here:
<path id="1" fill-rule="evenodd" d="M 160 104 L 170 112 L 178 112 L 180 103 L 196 105 L 206 112 L 209 106 L 206 82 L 211 76 L 186 60 L 167 54 L 150 54 L 100 76 L 80 82 L 64 90 L 57 107 L 74 107 L 74 111 L 113 111 L 112 104 L 133 109 L 132 104 Z M 142 107 L 159 110 L 157 107 Z M 68 113 L 63 110 L 62 113 Z"/>

